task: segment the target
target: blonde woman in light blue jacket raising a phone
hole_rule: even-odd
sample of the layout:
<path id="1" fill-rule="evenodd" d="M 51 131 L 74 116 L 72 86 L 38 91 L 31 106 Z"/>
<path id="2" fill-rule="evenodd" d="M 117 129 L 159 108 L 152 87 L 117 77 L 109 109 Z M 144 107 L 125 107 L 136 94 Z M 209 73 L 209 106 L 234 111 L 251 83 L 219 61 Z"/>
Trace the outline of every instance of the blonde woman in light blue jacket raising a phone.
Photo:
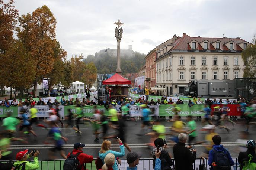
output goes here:
<path id="1" fill-rule="evenodd" d="M 124 145 L 122 144 L 122 141 L 119 138 L 117 139 L 117 141 L 119 142 L 119 145 L 120 145 L 120 152 L 110 150 L 111 141 L 109 140 L 105 140 L 101 144 L 101 149 L 99 151 L 99 158 L 102 160 L 103 163 L 108 164 L 105 160 L 105 157 L 109 153 L 112 153 L 115 156 L 115 159 L 118 161 L 118 163 L 121 164 L 121 160 L 119 160 L 119 157 L 125 156 L 125 150 L 124 150 Z M 118 170 L 118 166 L 115 162 L 113 163 L 112 168 L 113 170 Z"/>

